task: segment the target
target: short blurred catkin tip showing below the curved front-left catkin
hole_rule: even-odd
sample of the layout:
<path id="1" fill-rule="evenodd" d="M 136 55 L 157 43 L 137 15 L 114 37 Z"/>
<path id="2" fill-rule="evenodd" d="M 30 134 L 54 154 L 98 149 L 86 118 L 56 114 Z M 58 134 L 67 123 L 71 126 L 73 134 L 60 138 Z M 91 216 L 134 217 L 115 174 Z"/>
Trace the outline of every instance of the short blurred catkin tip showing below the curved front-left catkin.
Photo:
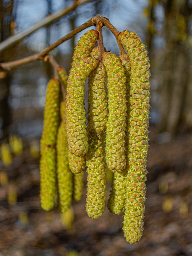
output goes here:
<path id="1" fill-rule="evenodd" d="M 73 174 L 73 199 L 77 202 L 82 198 L 84 172 Z"/>

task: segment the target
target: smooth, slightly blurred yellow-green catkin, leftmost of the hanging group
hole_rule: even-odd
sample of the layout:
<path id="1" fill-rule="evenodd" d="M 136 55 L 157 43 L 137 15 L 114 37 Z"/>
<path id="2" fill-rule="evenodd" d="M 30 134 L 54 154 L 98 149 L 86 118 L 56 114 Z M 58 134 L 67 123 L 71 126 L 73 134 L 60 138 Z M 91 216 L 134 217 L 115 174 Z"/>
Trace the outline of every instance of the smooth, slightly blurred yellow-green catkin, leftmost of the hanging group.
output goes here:
<path id="1" fill-rule="evenodd" d="M 60 113 L 60 84 L 57 79 L 48 82 L 41 138 L 40 200 L 48 211 L 54 207 L 56 193 L 56 136 Z"/>

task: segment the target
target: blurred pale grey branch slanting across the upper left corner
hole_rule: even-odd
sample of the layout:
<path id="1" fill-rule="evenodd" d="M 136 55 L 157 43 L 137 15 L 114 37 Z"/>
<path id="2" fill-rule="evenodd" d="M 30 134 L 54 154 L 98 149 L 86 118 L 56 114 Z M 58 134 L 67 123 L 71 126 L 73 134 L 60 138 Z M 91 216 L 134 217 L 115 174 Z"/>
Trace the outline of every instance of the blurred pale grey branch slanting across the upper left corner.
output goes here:
<path id="1" fill-rule="evenodd" d="M 54 14 L 50 14 L 46 18 L 41 20 L 40 22 L 38 22 L 35 25 L 31 26 L 30 28 L 26 29 L 25 31 L 20 32 L 20 33 L 14 35 L 14 36 L 10 36 L 6 40 L 4 40 L 2 43 L 0 43 L 0 52 L 2 50 L 5 50 L 5 49 L 9 48 L 10 46 L 13 46 L 13 45 L 17 44 L 20 40 L 24 39 L 26 36 L 29 36 L 30 34 L 35 32 L 39 28 L 42 28 L 43 26 L 49 25 L 50 23 L 54 22 L 55 20 L 58 20 L 62 16 L 68 14 L 69 12 L 73 11 L 78 6 L 80 6 L 80 5 L 82 5 L 86 2 L 90 2 L 90 0 L 75 1 L 74 4 L 72 4 L 72 6 L 68 6 L 68 7 L 54 13 Z"/>

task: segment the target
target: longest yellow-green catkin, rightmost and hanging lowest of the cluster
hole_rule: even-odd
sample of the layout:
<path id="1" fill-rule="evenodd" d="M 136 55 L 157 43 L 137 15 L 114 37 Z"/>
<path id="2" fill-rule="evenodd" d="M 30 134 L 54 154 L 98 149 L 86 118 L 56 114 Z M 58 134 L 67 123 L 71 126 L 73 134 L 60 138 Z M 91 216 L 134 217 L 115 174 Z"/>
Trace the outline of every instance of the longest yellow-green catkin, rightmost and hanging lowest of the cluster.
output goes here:
<path id="1" fill-rule="evenodd" d="M 118 37 L 131 62 L 127 199 L 123 231 L 126 240 L 132 244 L 140 240 L 144 225 L 150 64 L 145 46 L 136 33 L 125 30 Z"/>

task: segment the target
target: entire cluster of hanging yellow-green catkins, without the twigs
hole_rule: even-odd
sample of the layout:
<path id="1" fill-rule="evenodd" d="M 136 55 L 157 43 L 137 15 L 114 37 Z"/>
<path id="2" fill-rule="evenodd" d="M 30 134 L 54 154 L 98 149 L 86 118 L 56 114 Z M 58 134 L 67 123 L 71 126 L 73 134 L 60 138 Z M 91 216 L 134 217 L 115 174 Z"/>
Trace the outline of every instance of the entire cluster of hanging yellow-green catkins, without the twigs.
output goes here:
<path id="1" fill-rule="evenodd" d="M 67 92 L 65 101 L 60 100 L 59 80 L 48 83 L 40 198 L 44 210 L 53 208 L 57 182 L 59 210 L 65 212 L 72 198 L 81 198 L 86 168 L 86 212 L 98 218 L 106 204 L 109 168 L 113 182 L 107 207 L 112 214 L 124 213 L 124 235 L 132 244 L 143 230 L 150 65 L 136 33 L 125 30 L 118 39 L 127 54 L 104 52 L 98 60 L 98 32 L 92 29 L 80 38 L 68 77 L 62 68 L 58 70 Z M 87 78 L 88 123 L 84 108 Z"/>

